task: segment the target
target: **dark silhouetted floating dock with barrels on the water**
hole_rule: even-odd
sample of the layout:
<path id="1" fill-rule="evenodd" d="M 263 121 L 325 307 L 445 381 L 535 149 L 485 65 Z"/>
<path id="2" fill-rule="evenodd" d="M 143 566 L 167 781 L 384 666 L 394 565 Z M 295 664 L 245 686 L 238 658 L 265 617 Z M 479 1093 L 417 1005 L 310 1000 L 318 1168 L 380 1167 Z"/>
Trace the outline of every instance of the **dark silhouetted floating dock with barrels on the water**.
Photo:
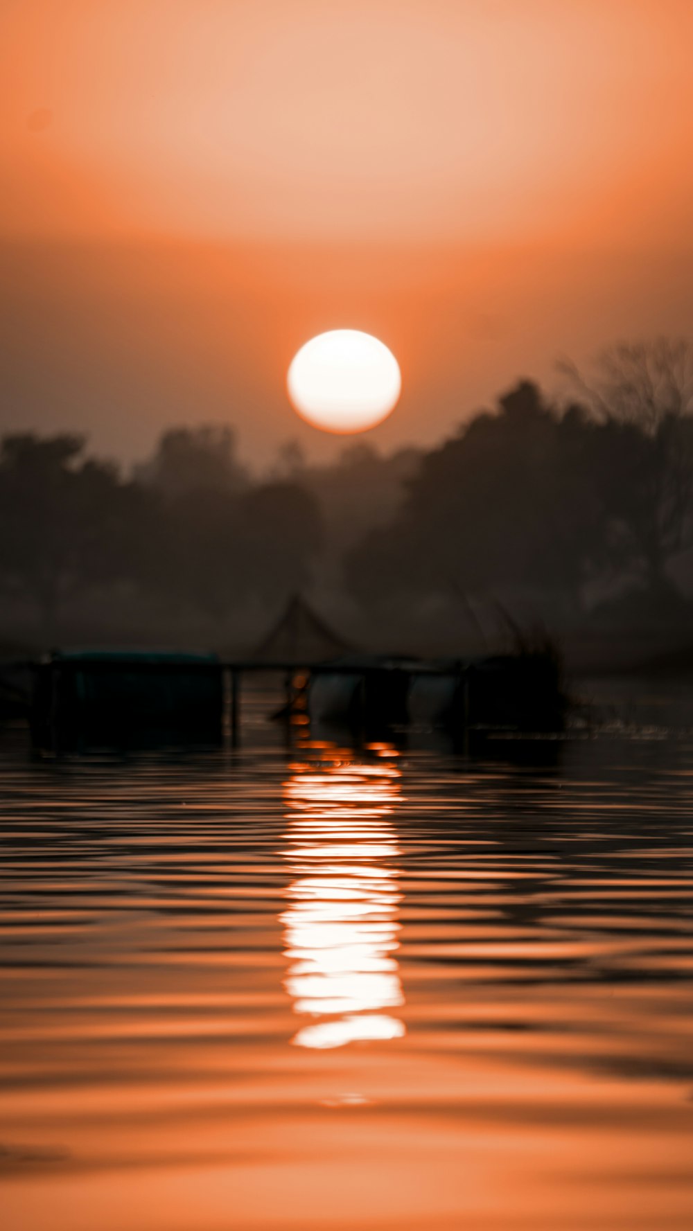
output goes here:
<path id="1" fill-rule="evenodd" d="M 553 665 L 540 656 L 425 661 L 345 655 L 332 661 L 222 660 L 214 655 L 54 654 L 32 664 L 34 746 L 59 751 L 127 745 L 138 735 L 182 744 L 241 742 L 247 676 L 284 680 L 283 715 L 297 696 L 310 723 L 377 737 L 412 724 L 555 730 L 565 709 Z M 297 684 L 300 681 L 300 686 Z"/>

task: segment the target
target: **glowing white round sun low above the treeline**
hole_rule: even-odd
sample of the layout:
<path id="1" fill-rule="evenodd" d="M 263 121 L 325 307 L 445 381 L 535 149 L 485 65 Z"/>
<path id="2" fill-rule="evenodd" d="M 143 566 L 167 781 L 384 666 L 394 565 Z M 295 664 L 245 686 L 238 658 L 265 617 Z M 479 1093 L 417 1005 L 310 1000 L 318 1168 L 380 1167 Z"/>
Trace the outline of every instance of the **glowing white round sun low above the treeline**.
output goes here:
<path id="1" fill-rule="evenodd" d="M 394 410 L 401 390 L 391 351 L 357 329 L 313 337 L 292 359 L 287 387 L 294 410 L 324 432 L 366 432 Z"/>

